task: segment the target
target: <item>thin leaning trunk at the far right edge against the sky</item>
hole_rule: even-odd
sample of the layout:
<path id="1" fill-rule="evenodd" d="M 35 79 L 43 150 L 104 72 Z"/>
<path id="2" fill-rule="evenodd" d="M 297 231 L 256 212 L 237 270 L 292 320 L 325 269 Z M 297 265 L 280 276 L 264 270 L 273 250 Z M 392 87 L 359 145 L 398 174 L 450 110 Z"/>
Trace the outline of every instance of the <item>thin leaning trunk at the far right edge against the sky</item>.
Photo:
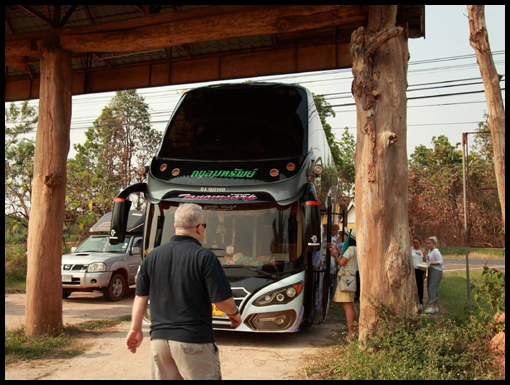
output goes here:
<path id="1" fill-rule="evenodd" d="M 476 52 L 476 60 L 480 67 L 485 88 L 485 99 L 489 108 L 487 124 L 492 135 L 496 183 L 503 214 L 503 231 L 505 231 L 505 107 L 499 86 L 502 77 L 496 72 L 496 66 L 492 60 L 489 35 L 485 27 L 484 6 L 468 5 L 468 14 L 469 44 Z"/>

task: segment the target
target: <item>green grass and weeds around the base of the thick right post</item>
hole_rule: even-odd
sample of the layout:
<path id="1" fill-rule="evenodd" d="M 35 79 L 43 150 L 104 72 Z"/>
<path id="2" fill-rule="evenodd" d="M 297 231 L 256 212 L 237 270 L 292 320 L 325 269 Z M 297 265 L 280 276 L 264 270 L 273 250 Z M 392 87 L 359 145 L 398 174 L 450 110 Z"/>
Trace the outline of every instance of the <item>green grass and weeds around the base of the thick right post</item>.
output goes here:
<path id="1" fill-rule="evenodd" d="M 474 284 L 472 311 L 467 309 L 465 273 L 445 274 L 439 288 L 439 304 L 441 308 L 448 307 L 445 314 L 420 315 L 395 327 L 382 323 L 367 349 L 361 349 L 357 340 L 342 340 L 329 351 L 323 351 L 321 357 L 307 367 L 307 378 L 501 379 L 488 346 L 496 329 L 504 328 L 504 325 L 495 327 L 489 322 L 497 307 L 493 304 L 494 288 L 504 291 L 505 278 L 504 274 L 490 274 L 488 270 L 470 274 Z M 503 306 L 504 310 L 504 295 L 499 302 L 498 306 L 500 309 Z M 487 317 L 479 315 L 482 313 Z M 342 316 L 340 312 L 334 314 Z"/>

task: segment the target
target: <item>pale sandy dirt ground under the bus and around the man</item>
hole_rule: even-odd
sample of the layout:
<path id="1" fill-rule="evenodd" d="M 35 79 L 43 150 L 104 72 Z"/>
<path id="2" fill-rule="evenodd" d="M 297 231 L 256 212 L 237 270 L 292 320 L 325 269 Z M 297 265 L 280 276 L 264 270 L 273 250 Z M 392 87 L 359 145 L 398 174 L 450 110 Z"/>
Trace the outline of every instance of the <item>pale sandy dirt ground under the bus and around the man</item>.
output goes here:
<path id="1" fill-rule="evenodd" d="M 111 303 L 101 293 L 73 293 L 63 301 L 64 324 L 92 319 L 118 318 L 131 314 L 133 293 Z M 24 323 L 25 295 L 5 297 L 5 326 Z M 334 345 L 346 329 L 342 323 L 314 325 L 298 333 L 252 334 L 217 331 L 223 379 L 305 379 L 307 361 L 317 359 L 320 348 Z M 124 347 L 129 323 L 83 333 L 80 340 L 88 350 L 69 359 L 19 362 L 5 369 L 6 380 L 146 380 L 149 379 L 149 327 L 136 354 Z"/>

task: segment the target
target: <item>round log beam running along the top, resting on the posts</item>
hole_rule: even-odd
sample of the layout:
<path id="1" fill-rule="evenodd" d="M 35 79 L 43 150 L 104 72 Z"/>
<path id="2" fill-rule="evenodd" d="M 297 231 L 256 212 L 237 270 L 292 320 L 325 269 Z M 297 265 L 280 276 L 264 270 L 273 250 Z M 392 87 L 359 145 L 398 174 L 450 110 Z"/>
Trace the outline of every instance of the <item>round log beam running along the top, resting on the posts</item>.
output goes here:
<path id="1" fill-rule="evenodd" d="M 37 56 L 34 40 L 60 37 L 71 52 L 132 52 L 366 19 L 357 5 L 221 5 L 5 37 L 5 56 Z"/>

